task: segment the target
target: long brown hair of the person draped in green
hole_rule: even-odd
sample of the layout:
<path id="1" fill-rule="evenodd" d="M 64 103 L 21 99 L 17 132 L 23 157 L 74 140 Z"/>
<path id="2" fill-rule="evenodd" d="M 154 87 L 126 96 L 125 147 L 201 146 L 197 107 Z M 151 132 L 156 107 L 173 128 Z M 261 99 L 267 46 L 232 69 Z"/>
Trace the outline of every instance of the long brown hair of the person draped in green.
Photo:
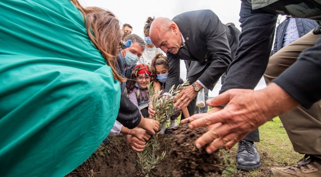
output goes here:
<path id="1" fill-rule="evenodd" d="M 87 34 L 94 46 L 101 52 L 107 65 L 112 68 L 115 80 L 125 82 L 117 73 L 116 56 L 120 52 L 121 29 L 119 20 L 108 10 L 99 7 L 82 7 L 78 0 L 71 2 L 80 10 L 86 24 Z"/>

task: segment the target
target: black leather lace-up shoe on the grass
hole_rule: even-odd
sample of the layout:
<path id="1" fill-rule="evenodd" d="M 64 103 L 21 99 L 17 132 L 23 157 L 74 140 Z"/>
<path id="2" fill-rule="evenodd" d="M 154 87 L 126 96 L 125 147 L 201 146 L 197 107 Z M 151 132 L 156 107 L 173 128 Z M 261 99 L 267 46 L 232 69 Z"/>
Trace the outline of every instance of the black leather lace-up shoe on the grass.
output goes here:
<path id="1" fill-rule="evenodd" d="M 251 171 L 261 165 L 261 157 L 257 152 L 256 146 L 246 140 L 241 140 L 236 154 L 236 168 Z"/>

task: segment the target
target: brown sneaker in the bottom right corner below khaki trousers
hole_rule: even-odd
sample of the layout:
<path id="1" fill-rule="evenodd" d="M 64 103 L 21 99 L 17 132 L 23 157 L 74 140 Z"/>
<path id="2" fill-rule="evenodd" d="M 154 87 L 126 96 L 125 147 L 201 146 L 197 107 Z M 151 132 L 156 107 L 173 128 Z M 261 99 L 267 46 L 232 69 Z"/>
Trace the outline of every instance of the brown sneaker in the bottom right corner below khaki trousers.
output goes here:
<path id="1" fill-rule="evenodd" d="M 276 177 L 321 177 L 321 159 L 304 155 L 297 163 L 291 167 L 274 167 L 270 174 Z"/>

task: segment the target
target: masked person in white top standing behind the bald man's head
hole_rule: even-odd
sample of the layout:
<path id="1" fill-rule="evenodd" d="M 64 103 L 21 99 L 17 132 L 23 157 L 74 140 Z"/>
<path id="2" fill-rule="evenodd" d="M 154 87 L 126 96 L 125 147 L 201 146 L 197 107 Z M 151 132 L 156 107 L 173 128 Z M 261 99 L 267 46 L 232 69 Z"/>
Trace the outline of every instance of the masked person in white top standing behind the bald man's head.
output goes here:
<path id="1" fill-rule="evenodd" d="M 149 36 L 149 29 L 151 28 L 151 24 L 154 18 L 148 17 L 147 21 L 145 22 L 144 27 L 144 41 L 145 41 L 145 50 L 141 59 L 139 59 L 138 63 L 151 65 L 153 57 L 158 54 L 162 53 L 160 48 L 156 48 L 155 45 L 152 43 L 151 38 Z"/>

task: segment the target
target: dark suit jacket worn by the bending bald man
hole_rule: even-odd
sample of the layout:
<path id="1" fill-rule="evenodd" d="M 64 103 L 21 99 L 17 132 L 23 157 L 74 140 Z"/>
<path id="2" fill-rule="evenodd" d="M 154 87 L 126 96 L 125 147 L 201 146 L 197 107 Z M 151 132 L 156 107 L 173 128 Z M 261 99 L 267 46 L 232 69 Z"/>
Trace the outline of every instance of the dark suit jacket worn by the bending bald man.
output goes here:
<path id="1" fill-rule="evenodd" d="M 234 29 L 223 25 L 211 10 L 185 12 L 174 17 L 172 21 L 180 29 L 185 46 L 175 55 L 166 53 L 169 74 L 164 91 L 168 92 L 172 85 L 177 85 L 180 59 L 192 61 L 187 76 L 190 84 L 200 80 L 205 87 L 213 89 L 214 83 L 232 61 L 230 45 L 237 46 Z"/>

